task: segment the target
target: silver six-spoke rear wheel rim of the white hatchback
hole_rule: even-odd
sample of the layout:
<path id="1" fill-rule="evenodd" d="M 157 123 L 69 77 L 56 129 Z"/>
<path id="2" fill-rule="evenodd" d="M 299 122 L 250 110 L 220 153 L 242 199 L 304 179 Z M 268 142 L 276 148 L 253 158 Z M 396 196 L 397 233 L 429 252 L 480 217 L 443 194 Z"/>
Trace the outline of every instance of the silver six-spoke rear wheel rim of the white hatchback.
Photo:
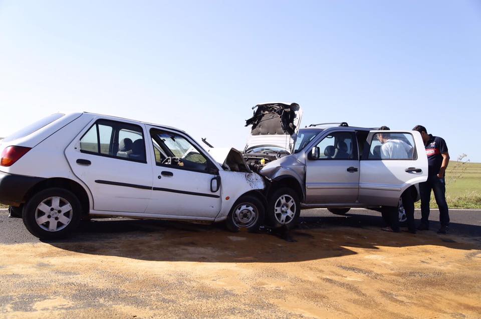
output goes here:
<path id="1" fill-rule="evenodd" d="M 35 220 L 40 228 L 47 231 L 64 229 L 72 220 L 72 205 L 59 196 L 48 197 L 35 210 Z"/>

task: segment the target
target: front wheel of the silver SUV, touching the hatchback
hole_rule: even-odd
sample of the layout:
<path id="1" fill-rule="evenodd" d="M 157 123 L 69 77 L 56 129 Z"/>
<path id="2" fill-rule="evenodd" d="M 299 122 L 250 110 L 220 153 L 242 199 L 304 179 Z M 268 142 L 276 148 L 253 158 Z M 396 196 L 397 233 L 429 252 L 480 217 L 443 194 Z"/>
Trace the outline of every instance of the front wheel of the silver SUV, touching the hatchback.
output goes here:
<path id="1" fill-rule="evenodd" d="M 268 223 L 274 228 L 293 229 L 299 222 L 301 203 L 292 188 L 281 187 L 274 191 L 269 198 L 267 209 Z"/>

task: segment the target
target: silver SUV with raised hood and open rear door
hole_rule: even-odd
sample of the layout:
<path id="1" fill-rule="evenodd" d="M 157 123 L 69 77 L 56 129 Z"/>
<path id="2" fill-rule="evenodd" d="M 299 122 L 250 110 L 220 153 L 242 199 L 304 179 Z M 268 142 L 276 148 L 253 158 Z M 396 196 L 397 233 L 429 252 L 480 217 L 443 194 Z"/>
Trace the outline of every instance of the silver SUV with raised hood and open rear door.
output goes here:
<path id="1" fill-rule="evenodd" d="M 292 228 L 301 209 L 328 208 L 345 214 L 352 207 L 379 211 L 398 208 L 406 220 L 401 195 L 419 198 L 418 183 L 427 179 L 427 157 L 417 131 L 379 131 L 346 122 L 300 128 L 297 103 L 262 103 L 246 121 L 252 125 L 244 157 L 270 182 L 267 223 Z M 381 144 L 380 135 L 389 136 Z M 404 154 L 388 154 L 394 143 Z M 382 151 L 382 153 L 381 153 Z"/>

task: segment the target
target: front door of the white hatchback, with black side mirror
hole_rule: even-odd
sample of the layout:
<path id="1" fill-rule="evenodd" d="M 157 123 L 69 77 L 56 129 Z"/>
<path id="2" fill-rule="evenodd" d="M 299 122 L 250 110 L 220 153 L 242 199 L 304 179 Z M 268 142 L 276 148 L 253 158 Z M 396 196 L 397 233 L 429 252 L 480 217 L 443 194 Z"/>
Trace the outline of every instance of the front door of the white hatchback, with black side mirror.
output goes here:
<path id="1" fill-rule="evenodd" d="M 187 134 L 148 126 L 153 161 L 153 192 L 146 212 L 166 216 L 215 218 L 220 211 L 218 168 Z"/>

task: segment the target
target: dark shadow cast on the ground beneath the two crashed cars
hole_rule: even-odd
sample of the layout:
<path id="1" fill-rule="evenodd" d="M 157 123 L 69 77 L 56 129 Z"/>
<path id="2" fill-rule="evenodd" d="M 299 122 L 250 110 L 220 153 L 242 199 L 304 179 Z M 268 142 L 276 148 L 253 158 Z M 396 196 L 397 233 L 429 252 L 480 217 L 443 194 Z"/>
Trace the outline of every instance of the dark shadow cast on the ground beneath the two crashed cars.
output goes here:
<path id="1" fill-rule="evenodd" d="M 83 222 L 72 237 L 44 242 L 87 254 L 201 262 L 294 262 L 352 255 L 358 248 L 375 253 L 378 246 L 481 247 L 480 238 L 465 240 L 433 231 L 391 233 L 381 231 L 382 225 L 379 216 L 347 214 L 302 217 L 299 227 L 291 231 L 263 228 L 258 233 L 232 233 L 222 223 L 110 218 Z M 480 226 L 462 226 L 469 233 L 481 233 Z"/>

